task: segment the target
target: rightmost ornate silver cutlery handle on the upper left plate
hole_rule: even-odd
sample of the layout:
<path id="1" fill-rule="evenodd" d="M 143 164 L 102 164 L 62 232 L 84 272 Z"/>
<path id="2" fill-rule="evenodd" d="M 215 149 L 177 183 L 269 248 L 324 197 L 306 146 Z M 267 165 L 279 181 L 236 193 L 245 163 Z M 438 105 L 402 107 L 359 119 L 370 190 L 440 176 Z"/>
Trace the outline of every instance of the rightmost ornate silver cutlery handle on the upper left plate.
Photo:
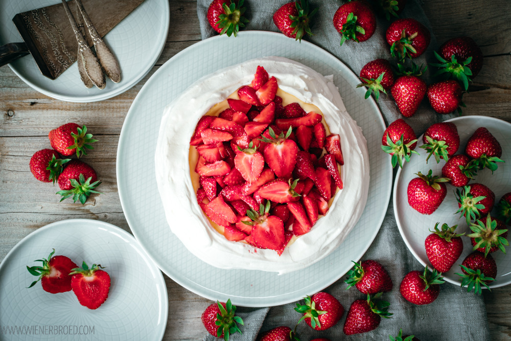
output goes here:
<path id="1" fill-rule="evenodd" d="M 87 15 L 87 12 L 85 12 L 82 2 L 80 0 L 75 0 L 75 3 L 82 13 L 85 25 L 89 29 L 90 36 L 94 42 L 94 48 L 96 49 L 96 56 L 101 66 L 103 66 L 103 70 L 105 70 L 106 75 L 112 82 L 119 83 L 121 81 L 121 67 L 119 66 L 117 58 L 115 58 L 112 51 L 106 46 L 105 42 L 98 34 L 98 31 L 94 28 L 94 25 L 92 25 L 92 21 Z"/>

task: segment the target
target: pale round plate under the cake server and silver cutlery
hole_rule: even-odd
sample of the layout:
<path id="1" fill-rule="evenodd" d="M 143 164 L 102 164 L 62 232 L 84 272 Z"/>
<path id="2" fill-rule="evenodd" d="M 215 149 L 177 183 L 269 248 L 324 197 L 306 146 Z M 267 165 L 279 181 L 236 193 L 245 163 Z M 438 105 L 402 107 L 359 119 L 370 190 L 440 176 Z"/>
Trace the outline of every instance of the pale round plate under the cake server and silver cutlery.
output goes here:
<path id="1" fill-rule="evenodd" d="M 0 45 L 22 41 L 12 22 L 15 14 L 56 3 L 55 0 L 0 1 Z M 105 42 L 119 60 L 122 79 L 114 83 L 107 77 L 102 90 L 83 85 L 77 63 L 55 80 L 43 76 L 30 55 L 9 66 L 21 80 L 44 95 L 67 102 L 102 101 L 122 94 L 147 75 L 163 51 L 169 21 L 167 0 L 145 0 L 105 35 Z"/>

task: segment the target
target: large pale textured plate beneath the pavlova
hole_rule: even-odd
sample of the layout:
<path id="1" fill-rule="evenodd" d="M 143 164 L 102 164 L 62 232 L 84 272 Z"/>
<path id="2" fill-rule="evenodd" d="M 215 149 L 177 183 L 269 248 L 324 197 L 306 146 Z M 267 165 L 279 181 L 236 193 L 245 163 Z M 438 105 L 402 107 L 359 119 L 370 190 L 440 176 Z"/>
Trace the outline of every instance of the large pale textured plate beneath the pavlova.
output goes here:
<path id="1" fill-rule="evenodd" d="M 254 43 L 258 41 L 265 43 Z M 225 58 L 225 51 L 229 51 L 229 58 Z M 265 56 L 286 57 L 322 75 L 334 75 L 347 111 L 367 139 L 370 165 L 365 211 L 342 245 L 314 265 L 280 276 L 276 272 L 220 269 L 190 253 L 167 223 L 152 161 L 167 104 L 205 75 Z M 215 36 L 181 51 L 162 65 L 133 101 L 117 154 L 117 181 L 126 219 L 135 238 L 162 271 L 205 298 L 224 302 L 230 299 L 236 305 L 251 307 L 297 301 L 343 276 L 352 267 L 351 261 L 359 260 L 376 237 L 391 192 L 388 179 L 392 178 L 392 169 L 379 141 L 385 124 L 375 102 L 364 100 L 365 90 L 356 88 L 358 83 L 357 76 L 331 54 L 307 41 L 297 43 L 273 32 L 243 31 L 237 38 Z M 196 200 L 195 194 L 183 200 Z"/>

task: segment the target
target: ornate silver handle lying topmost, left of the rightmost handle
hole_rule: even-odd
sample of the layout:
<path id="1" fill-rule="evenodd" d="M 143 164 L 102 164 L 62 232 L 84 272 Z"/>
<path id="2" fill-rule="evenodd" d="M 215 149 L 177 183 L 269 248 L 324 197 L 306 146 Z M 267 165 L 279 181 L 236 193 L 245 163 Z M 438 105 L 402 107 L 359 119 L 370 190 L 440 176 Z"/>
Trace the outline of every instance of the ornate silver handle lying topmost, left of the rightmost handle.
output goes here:
<path id="1" fill-rule="evenodd" d="M 103 73 L 103 69 L 101 69 L 101 64 L 99 63 L 98 58 L 90 51 L 90 48 L 87 46 L 85 41 L 85 37 L 82 35 L 82 32 L 78 29 L 78 25 L 76 24 L 75 17 L 69 6 L 67 5 L 65 0 L 62 0 L 62 4 L 64 5 L 65 12 L 69 21 L 71 22 L 71 27 L 75 32 L 76 40 L 78 41 L 79 54 L 77 58 L 82 58 L 83 68 L 85 69 L 85 73 L 89 77 L 90 81 L 94 83 L 98 88 L 104 89 L 105 82 L 105 74 Z"/>

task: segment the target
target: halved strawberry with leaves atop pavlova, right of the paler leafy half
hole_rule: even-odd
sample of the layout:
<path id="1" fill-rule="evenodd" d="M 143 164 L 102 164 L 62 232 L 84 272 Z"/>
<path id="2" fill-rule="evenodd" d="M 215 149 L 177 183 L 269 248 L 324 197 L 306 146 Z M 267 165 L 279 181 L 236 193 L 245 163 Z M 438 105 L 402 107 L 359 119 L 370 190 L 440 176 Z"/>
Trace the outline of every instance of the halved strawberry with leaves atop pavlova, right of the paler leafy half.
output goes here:
<path id="1" fill-rule="evenodd" d="M 268 143 L 263 151 L 264 160 L 277 177 L 288 178 L 293 172 L 296 164 L 296 154 L 298 153 L 296 143 L 288 139 L 291 128 L 288 129 L 285 135 L 284 132 L 281 132 L 278 137 L 271 127 L 268 130 L 271 139 L 261 139 L 261 141 Z"/>

